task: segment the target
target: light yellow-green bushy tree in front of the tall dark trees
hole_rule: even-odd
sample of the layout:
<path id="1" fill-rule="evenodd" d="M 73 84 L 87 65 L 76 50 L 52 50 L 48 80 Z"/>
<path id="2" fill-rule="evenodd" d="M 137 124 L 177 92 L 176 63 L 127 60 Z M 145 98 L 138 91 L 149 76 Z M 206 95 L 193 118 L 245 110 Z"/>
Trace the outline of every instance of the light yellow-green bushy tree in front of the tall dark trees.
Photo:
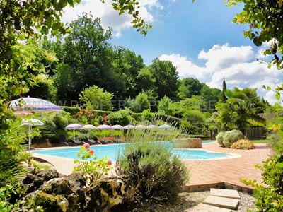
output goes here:
<path id="1" fill-rule="evenodd" d="M 81 91 L 80 99 L 86 101 L 86 107 L 94 110 L 112 110 L 112 93 L 98 86 L 91 86 Z"/>

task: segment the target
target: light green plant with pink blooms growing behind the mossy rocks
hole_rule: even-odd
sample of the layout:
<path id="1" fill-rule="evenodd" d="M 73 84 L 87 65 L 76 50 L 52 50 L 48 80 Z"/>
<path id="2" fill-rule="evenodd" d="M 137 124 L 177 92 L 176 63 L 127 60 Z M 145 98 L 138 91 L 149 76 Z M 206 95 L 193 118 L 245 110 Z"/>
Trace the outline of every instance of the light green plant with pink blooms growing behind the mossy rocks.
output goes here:
<path id="1" fill-rule="evenodd" d="M 74 161 L 76 165 L 73 172 L 81 172 L 88 185 L 95 179 L 107 175 L 111 168 L 112 161 L 107 157 L 98 159 L 88 143 L 83 144 L 77 155 L 80 159 Z"/>

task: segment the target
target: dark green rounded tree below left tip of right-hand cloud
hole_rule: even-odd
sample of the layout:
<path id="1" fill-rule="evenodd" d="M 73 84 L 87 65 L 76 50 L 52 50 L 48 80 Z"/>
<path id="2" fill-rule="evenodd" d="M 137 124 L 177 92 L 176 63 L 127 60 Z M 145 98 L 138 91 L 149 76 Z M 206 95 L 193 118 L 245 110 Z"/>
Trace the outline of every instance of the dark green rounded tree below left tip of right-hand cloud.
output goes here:
<path id="1" fill-rule="evenodd" d="M 154 59 L 149 66 L 149 70 L 151 71 L 152 76 L 154 76 L 154 84 L 158 96 L 161 97 L 167 95 L 171 100 L 175 100 L 177 98 L 179 86 L 178 72 L 171 61 Z"/>

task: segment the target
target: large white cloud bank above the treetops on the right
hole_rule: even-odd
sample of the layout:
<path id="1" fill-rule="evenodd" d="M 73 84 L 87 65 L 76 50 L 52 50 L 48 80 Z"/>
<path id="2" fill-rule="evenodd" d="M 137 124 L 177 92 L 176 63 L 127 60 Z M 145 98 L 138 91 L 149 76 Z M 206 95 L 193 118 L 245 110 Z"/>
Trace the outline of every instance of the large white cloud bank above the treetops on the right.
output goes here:
<path id="1" fill-rule="evenodd" d="M 207 52 L 202 50 L 198 59 L 204 59 L 204 66 L 197 66 L 192 60 L 180 54 L 162 54 L 159 59 L 172 61 L 180 78 L 193 76 L 213 88 L 221 88 L 223 78 L 227 86 L 258 88 L 258 93 L 269 102 L 276 102 L 274 93 L 262 89 L 262 85 L 275 88 L 282 81 L 275 67 L 255 61 L 258 52 L 250 46 L 230 47 L 214 45 Z"/>

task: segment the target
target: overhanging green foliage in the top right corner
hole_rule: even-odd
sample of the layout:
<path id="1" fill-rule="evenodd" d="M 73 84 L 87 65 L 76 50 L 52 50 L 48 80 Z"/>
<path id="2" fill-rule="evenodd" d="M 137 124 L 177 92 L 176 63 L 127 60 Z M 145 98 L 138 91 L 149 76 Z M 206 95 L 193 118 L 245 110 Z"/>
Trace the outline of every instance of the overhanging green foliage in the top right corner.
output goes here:
<path id="1" fill-rule="evenodd" d="M 259 47 L 262 43 L 269 42 L 263 54 L 273 55 L 274 58 L 270 61 L 270 65 L 282 69 L 282 20 L 278 18 L 283 12 L 282 1 L 227 0 L 227 2 L 229 6 L 244 4 L 243 11 L 236 14 L 233 22 L 248 26 L 248 30 L 245 30 L 243 35 L 253 40 L 256 46 Z"/>

